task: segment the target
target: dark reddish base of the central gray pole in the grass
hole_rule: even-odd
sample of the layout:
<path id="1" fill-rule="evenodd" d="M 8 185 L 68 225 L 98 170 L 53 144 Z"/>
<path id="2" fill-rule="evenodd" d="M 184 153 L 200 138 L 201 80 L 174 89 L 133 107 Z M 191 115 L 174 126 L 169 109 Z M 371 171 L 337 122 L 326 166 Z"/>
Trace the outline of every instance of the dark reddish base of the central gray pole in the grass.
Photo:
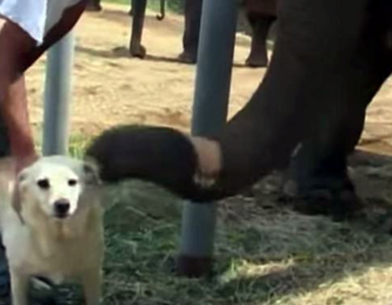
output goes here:
<path id="1" fill-rule="evenodd" d="M 212 275 L 212 257 L 195 257 L 180 254 L 176 261 L 176 274 L 187 278 Z"/>

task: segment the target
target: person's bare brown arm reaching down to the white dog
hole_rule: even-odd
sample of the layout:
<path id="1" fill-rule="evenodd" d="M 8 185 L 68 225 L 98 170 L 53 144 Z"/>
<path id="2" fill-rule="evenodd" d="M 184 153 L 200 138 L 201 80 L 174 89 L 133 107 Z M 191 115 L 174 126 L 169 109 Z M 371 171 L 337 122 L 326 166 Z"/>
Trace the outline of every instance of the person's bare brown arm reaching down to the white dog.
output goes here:
<path id="1" fill-rule="evenodd" d="M 28 117 L 24 72 L 73 28 L 84 9 L 85 0 L 67 9 L 38 47 L 18 25 L 0 17 L 0 113 L 8 130 L 11 154 L 16 158 L 18 170 L 36 156 Z"/>

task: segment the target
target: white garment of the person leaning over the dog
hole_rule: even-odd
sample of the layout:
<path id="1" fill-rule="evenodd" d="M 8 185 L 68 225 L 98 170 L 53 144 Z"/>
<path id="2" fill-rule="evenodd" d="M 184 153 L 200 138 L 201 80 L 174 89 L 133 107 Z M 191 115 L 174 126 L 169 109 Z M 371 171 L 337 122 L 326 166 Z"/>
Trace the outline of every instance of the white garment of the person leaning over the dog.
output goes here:
<path id="1" fill-rule="evenodd" d="M 64 10 L 82 0 L 0 0 L 0 16 L 18 24 L 37 44 L 57 24 Z"/>

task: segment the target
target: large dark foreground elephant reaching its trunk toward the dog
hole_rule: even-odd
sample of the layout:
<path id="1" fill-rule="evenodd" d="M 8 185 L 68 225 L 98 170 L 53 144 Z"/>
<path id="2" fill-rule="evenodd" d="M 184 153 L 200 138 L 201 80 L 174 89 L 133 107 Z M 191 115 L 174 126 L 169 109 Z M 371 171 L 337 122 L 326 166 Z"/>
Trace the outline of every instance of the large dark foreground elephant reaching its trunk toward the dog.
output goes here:
<path id="1" fill-rule="evenodd" d="M 109 128 L 85 153 L 100 166 L 102 180 L 141 178 L 203 203 L 288 169 L 296 195 L 309 199 L 300 211 L 346 219 L 363 210 L 347 157 L 363 131 L 368 104 L 392 72 L 392 5 L 279 0 L 277 12 L 265 76 L 219 133 Z"/>

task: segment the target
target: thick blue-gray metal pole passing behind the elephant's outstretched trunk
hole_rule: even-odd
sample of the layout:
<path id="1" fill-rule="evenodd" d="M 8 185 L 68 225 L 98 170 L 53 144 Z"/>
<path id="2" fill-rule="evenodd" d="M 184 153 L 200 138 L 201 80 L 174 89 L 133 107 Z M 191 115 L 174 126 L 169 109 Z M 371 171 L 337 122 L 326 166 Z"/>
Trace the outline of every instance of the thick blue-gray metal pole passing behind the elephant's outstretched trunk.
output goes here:
<path id="1" fill-rule="evenodd" d="M 238 0 L 203 0 L 194 93 L 192 134 L 217 134 L 227 120 Z M 210 272 L 216 204 L 185 202 L 177 272 Z"/>

